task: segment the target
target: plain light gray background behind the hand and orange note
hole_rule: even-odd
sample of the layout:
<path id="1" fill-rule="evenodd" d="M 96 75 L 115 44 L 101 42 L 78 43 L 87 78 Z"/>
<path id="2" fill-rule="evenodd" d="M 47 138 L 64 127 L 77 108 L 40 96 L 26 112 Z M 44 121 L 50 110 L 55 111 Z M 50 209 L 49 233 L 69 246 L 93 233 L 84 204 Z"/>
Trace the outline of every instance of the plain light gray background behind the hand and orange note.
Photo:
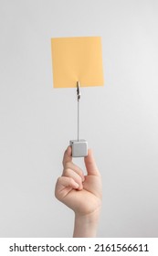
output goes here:
<path id="1" fill-rule="evenodd" d="M 0 236 L 72 235 L 54 187 L 76 91 L 52 88 L 50 37 L 78 36 L 102 37 L 105 86 L 83 88 L 80 110 L 102 176 L 98 236 L 157 237 L 156 0 L 0 1 Z"/>

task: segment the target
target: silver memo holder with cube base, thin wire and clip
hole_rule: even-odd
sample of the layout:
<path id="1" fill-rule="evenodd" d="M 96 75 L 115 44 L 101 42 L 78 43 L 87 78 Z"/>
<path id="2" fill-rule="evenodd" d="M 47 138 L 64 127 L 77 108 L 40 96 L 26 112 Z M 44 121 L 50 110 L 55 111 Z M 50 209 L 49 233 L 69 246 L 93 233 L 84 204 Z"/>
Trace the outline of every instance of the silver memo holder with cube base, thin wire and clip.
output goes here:
<path id="1" fill-rule="evenodd" d="M 88 142 L 86 140 L 79 140 L 79 101 L 80 101 L 80 87 L 77 81 L 77 97 L 78 97 L 78 140 L 71 140 L 69 142 L 72 148 L 72 157 L 84 157 L 88 155 Z"/>

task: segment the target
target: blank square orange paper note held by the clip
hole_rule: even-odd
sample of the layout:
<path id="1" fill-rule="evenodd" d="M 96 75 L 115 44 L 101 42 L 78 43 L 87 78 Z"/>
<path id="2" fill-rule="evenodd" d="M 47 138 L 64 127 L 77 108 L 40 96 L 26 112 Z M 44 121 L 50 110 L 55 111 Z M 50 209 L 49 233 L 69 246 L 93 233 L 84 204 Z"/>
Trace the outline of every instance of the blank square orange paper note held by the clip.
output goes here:
<path id="1" fill-rule="evenodd" d="M 51 52 L 54 88 L 104 84 L 100 37 L 51 38 Z"/>

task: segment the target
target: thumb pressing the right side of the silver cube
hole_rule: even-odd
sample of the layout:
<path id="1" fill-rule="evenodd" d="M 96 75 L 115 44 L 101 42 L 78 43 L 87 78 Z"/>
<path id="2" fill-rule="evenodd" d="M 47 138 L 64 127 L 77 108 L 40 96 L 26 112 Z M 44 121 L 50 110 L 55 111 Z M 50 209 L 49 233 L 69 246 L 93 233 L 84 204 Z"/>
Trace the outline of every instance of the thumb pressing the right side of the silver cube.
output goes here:
<path id="1" fill-rule="evenodd" d="M 88 175 L 100 176 L 100 172 L 99 172 L 99 169 L 96 165 L 96 162 L 95 162 L 95 159 L 94 159 L 94 156 L 92 154 L 91 149 L 89 149 L 88 156 L 86 156 L 84 158 L 84 161 L 85 161 L 85 165 L 86 165 L 86 168 L 87 168 Z"/>

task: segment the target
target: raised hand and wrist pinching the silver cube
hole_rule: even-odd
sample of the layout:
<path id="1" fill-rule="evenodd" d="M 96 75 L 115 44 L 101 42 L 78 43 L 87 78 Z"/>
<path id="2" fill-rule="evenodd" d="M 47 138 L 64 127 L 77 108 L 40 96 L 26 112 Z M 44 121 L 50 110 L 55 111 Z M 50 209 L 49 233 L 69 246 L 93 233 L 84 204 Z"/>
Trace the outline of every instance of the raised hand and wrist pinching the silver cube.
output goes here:
<path id="1" fill-rule="evenodd" d="M 84 158 L 87 175 L 73 164 L 71 147 L 63 158 L 63 174 L 58 178 L 55 195 L 75 212 L 74 237 L 95 237 L 101 206 L 101 178 L 91 150 Z"/>

